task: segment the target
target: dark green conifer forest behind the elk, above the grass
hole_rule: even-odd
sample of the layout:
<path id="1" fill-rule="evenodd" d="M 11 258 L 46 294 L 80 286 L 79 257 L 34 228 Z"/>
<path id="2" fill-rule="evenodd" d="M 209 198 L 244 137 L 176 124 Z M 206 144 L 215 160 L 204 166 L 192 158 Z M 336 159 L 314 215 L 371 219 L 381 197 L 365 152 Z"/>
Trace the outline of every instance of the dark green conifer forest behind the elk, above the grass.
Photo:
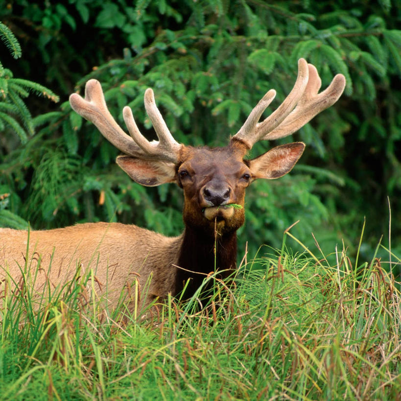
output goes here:
<path id="1" fill-rule="evenodd" d="M 254 147 L 256 156 L 307 143 L 291 174 L 248 189 L 240 253 L 246 242 L 249 257 L 262 244 L 281 246 L 300 220 L 291 232 L 308 247 L 313 233 L 324 252 L 344 241 L 370 259 L 391 236 L 400 256 L 400 1 L 0 4 L 0 226 L 103 220 L 178 235 L 181 190 L 133 183 L 115 164 L 118 150 L 71 110 L 69 94 L 98 79 L 120 125 L 129 105 L 152 138 L 143 108 L 152 87 L 178 142 L 219 146 L 269 89 L 278 93 L 270 111 L 280 104 L 305 57 L 322 88 L 343 73 L 345 93 L 292 137 Z"/>

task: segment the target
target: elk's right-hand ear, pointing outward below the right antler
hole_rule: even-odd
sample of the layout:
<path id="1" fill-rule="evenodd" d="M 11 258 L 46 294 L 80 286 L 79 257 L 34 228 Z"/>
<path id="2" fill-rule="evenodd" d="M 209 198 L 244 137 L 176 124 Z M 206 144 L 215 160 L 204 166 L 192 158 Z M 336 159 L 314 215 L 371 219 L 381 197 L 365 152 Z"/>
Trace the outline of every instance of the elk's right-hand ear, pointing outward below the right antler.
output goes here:
<path id="1" fill-rule="evenodd" d="M 291 171 L 298 162 L 305 143 L 293 142 L 276 146 L 261 156 L 249 160 L 249 168 L 254 178 L 279 178 Z"/>

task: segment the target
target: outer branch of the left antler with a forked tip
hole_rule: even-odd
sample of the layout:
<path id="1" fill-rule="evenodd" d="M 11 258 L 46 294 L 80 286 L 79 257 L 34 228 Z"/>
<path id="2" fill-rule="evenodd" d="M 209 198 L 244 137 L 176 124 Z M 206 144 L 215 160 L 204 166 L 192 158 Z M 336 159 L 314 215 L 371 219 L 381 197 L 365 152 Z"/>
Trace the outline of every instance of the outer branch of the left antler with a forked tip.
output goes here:
<path id="1" fill-rule="evenodd" d="M 101 134 L 119 150 L 131 156 L 142 155 L 141 148 L 117 124 L 107 109 L 100 82 L 90 79 L 85 85 L 85 98 L 70 95 L 74 111 L 94 123 Z"/>

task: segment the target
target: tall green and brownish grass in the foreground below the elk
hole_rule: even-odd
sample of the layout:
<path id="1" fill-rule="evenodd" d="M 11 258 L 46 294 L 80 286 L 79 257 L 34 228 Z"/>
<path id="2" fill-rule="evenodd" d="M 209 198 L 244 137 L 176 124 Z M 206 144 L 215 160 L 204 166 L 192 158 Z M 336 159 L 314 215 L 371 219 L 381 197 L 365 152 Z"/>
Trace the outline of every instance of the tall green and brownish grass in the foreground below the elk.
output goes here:
<path id="1" fill-rule="evenodd" d="M 231 288 L 209 277 L 207 309 L 195 294 L 147 319 L 82 308 L 82 281 L 37 312 L 27 288 L 0 294 L 1 399 L 399 400 L 401 294 L 383 265 L 263 247 Z"/>

